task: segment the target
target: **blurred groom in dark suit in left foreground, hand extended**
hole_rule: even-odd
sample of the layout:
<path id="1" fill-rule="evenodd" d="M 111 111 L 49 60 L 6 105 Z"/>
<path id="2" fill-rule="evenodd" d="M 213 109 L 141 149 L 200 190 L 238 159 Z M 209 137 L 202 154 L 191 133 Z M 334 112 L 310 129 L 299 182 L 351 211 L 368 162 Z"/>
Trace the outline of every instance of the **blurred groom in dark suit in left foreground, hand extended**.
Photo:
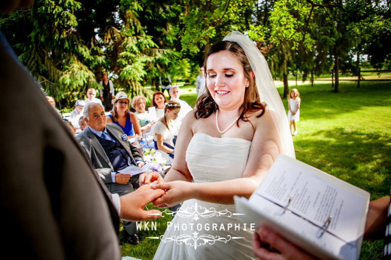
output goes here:
<path id="1" fill-rule="evenodd" d="M 29 4 L 5 0 L 0 10 Z M 0 104 L 2 251 L 12 259 L 121 259 L 119 216 L 158 218 L 143 209 L 164 191 L 145 185 L 121 198 L 109 194 L 1 32 L 0 60 L 3 94 L 24 104 Z"/>

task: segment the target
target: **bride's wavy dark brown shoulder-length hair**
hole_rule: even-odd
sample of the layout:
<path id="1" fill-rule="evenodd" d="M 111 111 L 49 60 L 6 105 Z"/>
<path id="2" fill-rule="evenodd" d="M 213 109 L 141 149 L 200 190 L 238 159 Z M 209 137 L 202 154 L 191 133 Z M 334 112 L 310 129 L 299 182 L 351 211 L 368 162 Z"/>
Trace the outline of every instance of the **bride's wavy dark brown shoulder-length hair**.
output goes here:
<path id="1" fill-rule="evenodd" d="M 211 54 L 217 53 L 219 51 L 230 51 L 238 58 L 240 64 L 243 67 L 244 76 L 249 82 L 249 86 L 245 89 L 244 92 L 244 101 L 239 107 L 242 110 L 239 120 L 248 121 L 246 113 L 252 111 L 262 110 L 261 114 L 257 117 L 261 117 L 265 113 L 266 104 L 261 103 L 260 96 L 258 94 L 257 86 L 255 85 L 255 76 L 253 76 L 253 70 L 251 69 L 250 62 L 247 59 L 246 54 L 240 45 L 235 41 L 223 40 L 214 44 L 209 48 L 205 55 L 204 61 L 204 70 L 205 70 L 205 78 L 206 78 L 206 62 Z M 205 80 L 206 82 L 206 80 Z M 195 118 L 207 118 L 212 115 L 217 110 L 217 104 L 215 100 L 213 100 L 208 88 L 205 83 L 205 92 L 198 98 L 195 102 Z M 239 120 L 237 125 L 239 127 Z"/>

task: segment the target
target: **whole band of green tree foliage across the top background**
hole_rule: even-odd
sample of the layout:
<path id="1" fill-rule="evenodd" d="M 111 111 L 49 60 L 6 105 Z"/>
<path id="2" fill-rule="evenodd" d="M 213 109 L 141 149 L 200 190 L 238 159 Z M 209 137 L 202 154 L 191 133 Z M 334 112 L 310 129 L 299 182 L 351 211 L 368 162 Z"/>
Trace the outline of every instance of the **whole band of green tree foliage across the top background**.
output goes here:
<path id="1" fill-rule="evenodd" d="M 387 3 L 36 0 L 0 15 L 0 27 L 31 74 L 56 84 L 64 106 L 98 88 L 103 72 L 131 96 L 150 95 L 143 85 L 155 89 L 159 77 L 193 81 L 209 46 L 232 30 L 255 40 L 281 79 L 301 73 L 305 80 L 336 67 L 357 71 L 363 55 L 375 68 L 391 66 Z"/>

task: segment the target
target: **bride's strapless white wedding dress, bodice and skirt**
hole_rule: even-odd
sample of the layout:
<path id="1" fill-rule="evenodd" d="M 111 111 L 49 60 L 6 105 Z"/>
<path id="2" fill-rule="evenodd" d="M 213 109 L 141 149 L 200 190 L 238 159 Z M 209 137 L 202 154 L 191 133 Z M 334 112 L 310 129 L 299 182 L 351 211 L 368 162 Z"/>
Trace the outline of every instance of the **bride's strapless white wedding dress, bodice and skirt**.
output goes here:
<path id="1" fill-rule="evenodd" d="M 238 138 L 195 134 L 186 151 L 186 162 L 193 181 L 240 178 L 250 144 L 251 141 Z M 249 231 L 249 226 L 243 227 L 233 213 L 236 213 L 235 205 L 195 199 L 184 201 L 161 238 L 153 259 L 255 258 L 251 245 L 253 231 Z"/>

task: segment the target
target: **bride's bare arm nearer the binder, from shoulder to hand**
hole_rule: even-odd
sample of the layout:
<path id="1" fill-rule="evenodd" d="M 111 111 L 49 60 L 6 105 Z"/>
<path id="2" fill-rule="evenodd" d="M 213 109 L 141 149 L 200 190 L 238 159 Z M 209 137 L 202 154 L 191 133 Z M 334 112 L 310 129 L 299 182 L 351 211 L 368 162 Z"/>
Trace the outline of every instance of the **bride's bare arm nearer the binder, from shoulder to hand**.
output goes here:
<path id="1" fill-rule="evenodd" d="M 266 112 L 261 118 L 254 120 L 253 124 L 256 130 L 242 178 L 212 183 L 171 181 L 157 184 L 154 187 L 166 190 L 166 195 L 157 199 L 155 205 L 173 205 L 192 198 L 221 204 L 232 204 L 234 203 L 234 195 L 249 198 L 281 152 L 281 141 L 270 112 Z M 176 163 L 181 162 L 176 160 Z M 186 164 L 185 161 L 183 163 Z M 169 173 L 171 174 L 171 170 Z M 173 171 L 173 176 L 176 176 L 176 173 L 177 170 Z M 169 179 L 169 176 L 166 178 L 166 181 L 178 180 Z"/>

